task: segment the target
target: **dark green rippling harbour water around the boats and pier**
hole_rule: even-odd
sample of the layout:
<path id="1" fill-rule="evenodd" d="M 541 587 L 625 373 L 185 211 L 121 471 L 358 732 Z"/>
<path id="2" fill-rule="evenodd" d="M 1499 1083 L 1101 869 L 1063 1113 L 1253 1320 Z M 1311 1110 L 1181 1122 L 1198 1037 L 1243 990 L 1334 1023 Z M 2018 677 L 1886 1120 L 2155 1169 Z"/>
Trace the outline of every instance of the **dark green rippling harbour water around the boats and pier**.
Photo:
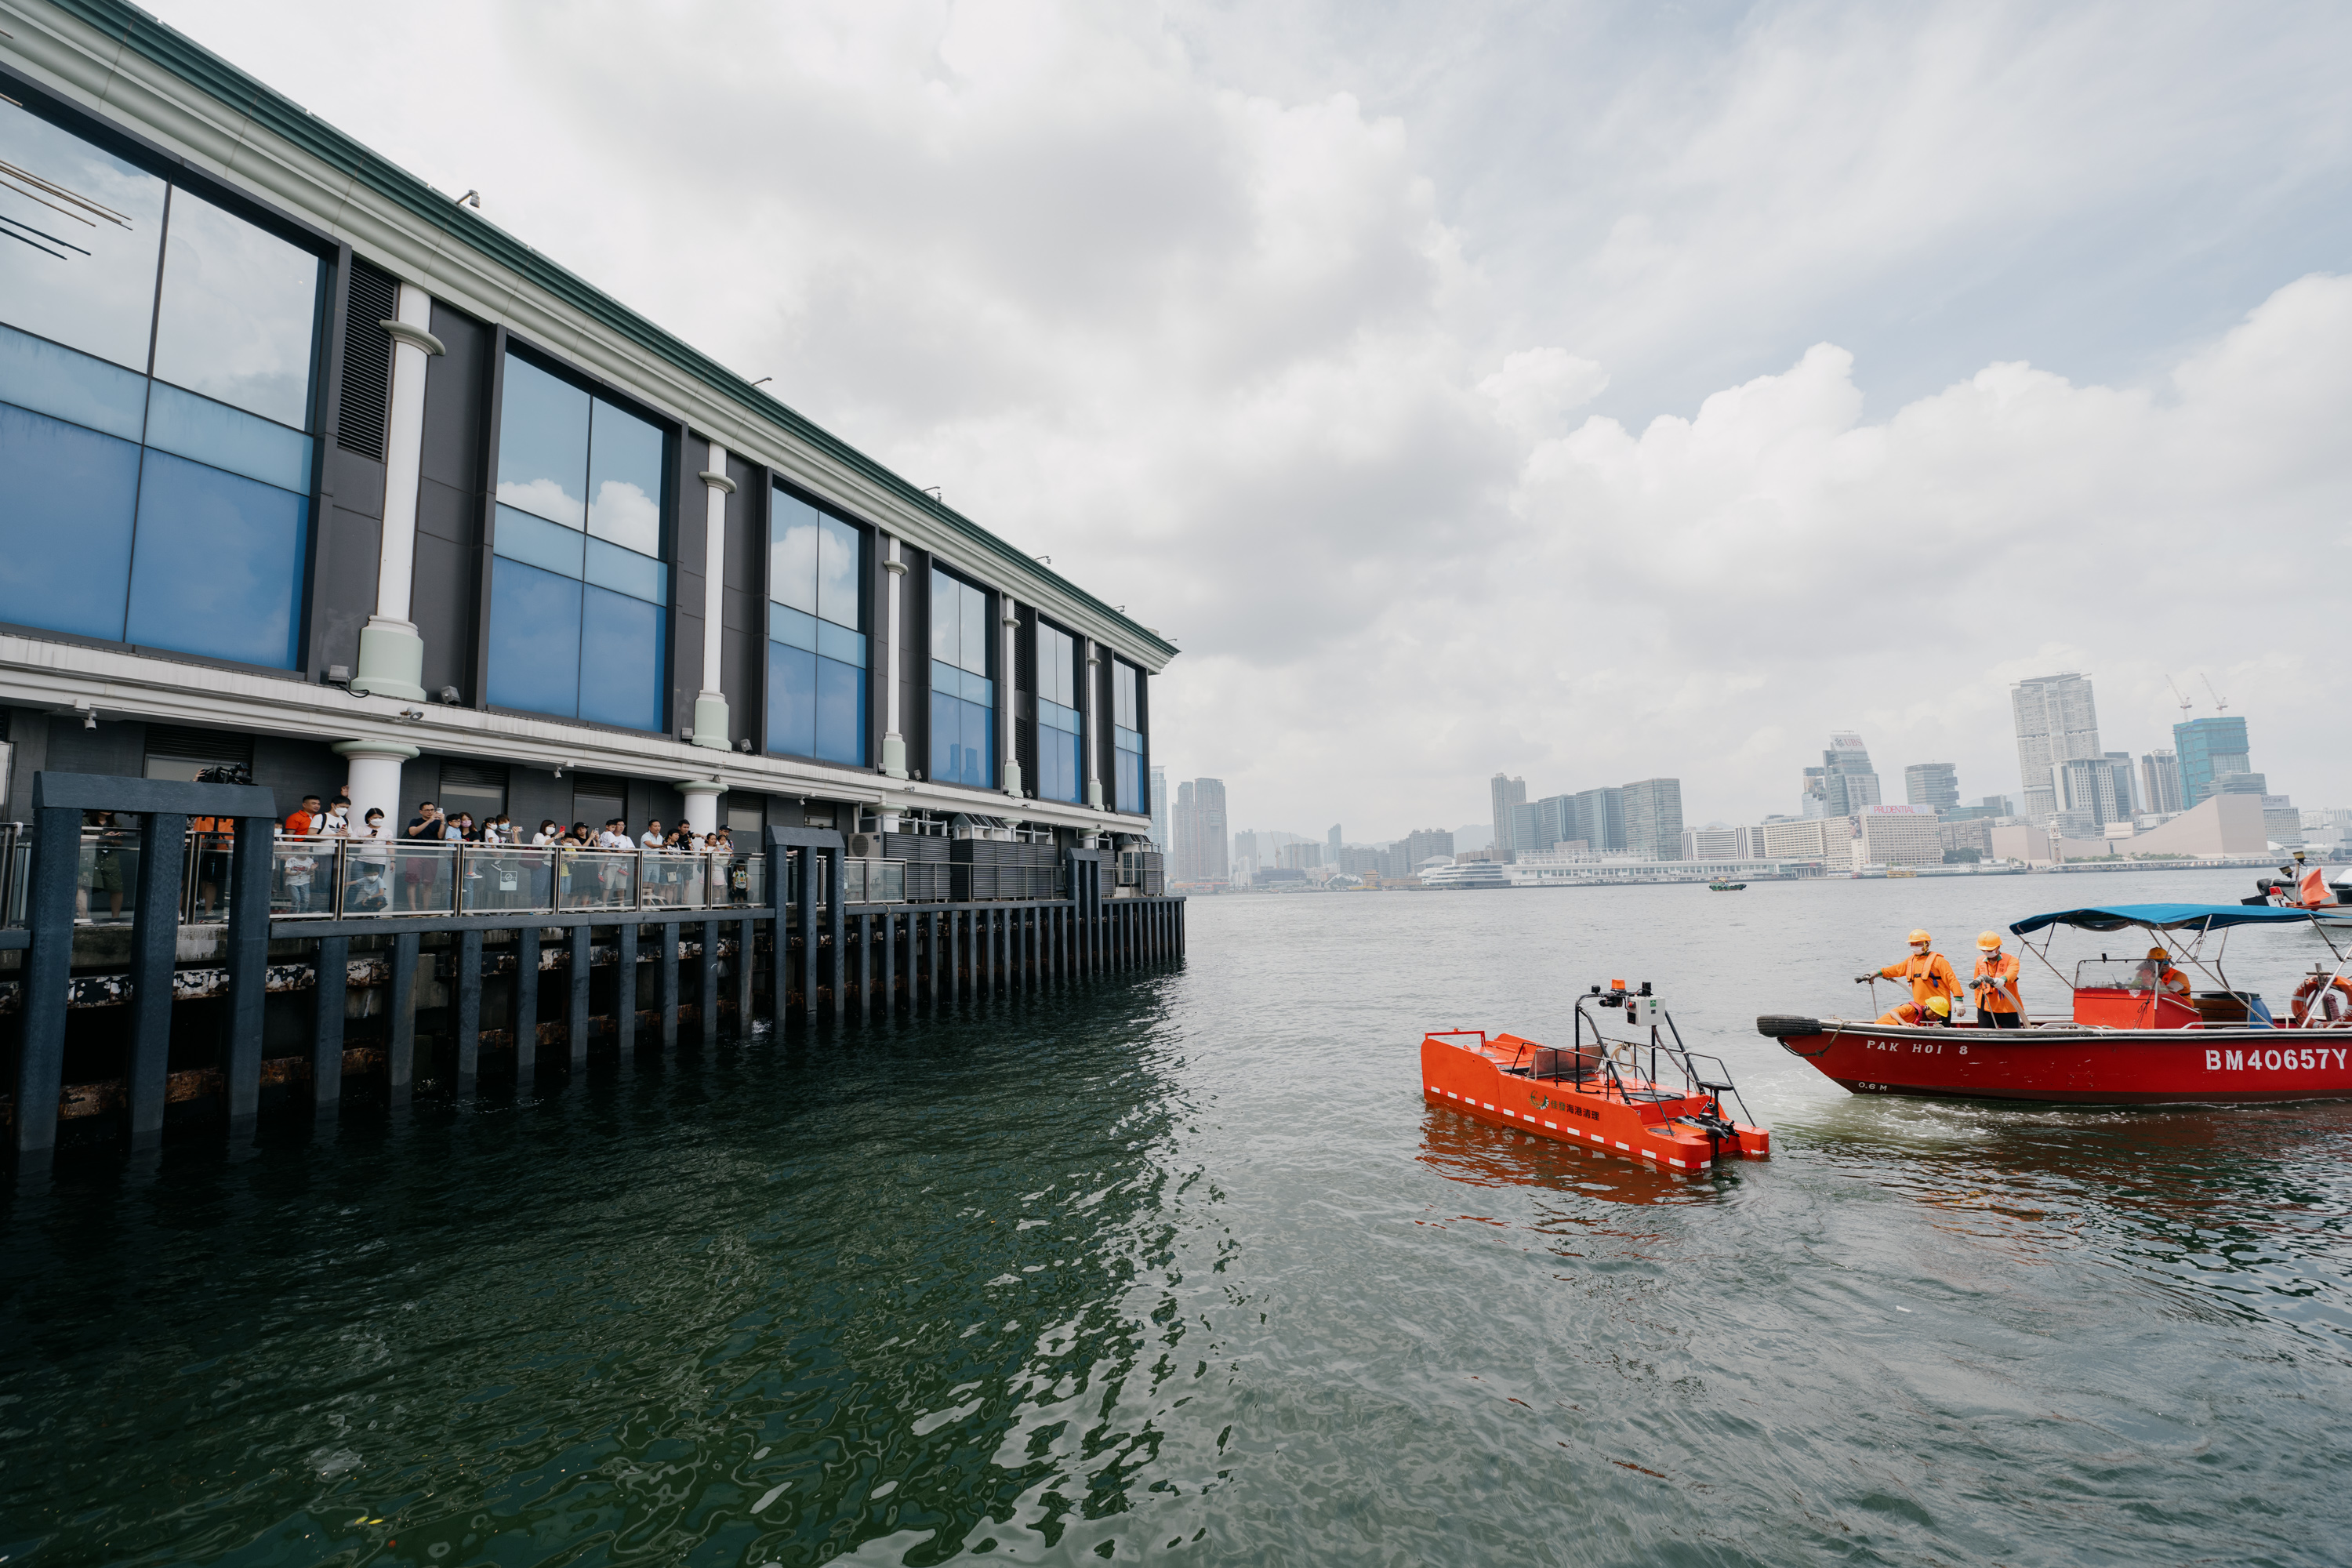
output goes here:
<path id="1" fill-rule="evenodd" d="M 2352 1107 L 1860 1100 L 1752 1032 L 1915 924 L 2249 879 L 1195 900 L 1181 971 L 66 1166 L 0 1215 L 0 1559 L 2338 1563 Z M 1423 1107 L 1423 1027 L 1611 978 L 1771 1161 Z"/>

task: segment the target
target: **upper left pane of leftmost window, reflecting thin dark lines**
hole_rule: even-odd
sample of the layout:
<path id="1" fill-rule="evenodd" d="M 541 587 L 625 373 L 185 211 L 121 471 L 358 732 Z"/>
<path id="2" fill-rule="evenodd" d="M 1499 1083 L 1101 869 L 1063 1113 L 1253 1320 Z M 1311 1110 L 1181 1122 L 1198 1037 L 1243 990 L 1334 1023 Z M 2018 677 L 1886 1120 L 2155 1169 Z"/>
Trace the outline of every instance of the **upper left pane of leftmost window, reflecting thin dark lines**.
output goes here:
<path id="1" fill-rule="evenodd" d="M 143 376 L 165 181 L 7 101 L 0 160 L 0 317 Z"/>

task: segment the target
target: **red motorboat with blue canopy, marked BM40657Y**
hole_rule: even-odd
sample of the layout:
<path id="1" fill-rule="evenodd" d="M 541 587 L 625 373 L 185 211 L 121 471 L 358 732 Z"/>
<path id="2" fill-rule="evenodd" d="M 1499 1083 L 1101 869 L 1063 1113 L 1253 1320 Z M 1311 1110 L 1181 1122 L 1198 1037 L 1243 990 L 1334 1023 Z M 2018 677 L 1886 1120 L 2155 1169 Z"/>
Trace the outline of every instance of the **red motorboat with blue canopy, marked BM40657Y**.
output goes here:
<path id="1" fill-rule="evenodd" d="M 2178 997 L 2161 987 L 2154 961 L 2100 957 L 2074 966 L 2065 1018 L 2027 1018 L 2018 1030 L 1766 1013 L 1757 1032 L 1853 1093 L 2056 1105 L 2352 1100 L 2347 954 L 2310 910 L 2140 903 L 2037 914 L 2009 929 L 2025 938 L 2060 926 L 2138 926 L 2169 943 L 2180 969 L 2211 980 L 2211 990 L 2192 983 Z M 2286 1016 L 2274 1018 L 2260 994 L 2223 973 L 2220 954 L 2237 926 L 2317 931 L 2336 971 L 2314 966 Z M 2218 938 L 2211 957 L 2209 938 Z M 2049 936 L 2025 950 L 2049 964 Z"/>

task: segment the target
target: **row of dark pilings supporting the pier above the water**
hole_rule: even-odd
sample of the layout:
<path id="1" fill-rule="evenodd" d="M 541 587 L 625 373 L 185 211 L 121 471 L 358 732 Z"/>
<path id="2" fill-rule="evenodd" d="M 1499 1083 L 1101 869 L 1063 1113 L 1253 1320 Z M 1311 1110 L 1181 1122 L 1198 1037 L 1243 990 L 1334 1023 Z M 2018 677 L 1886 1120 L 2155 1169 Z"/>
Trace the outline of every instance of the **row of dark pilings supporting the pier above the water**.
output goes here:
<path id="1" fill-rule="evenodd" d="M 127 945 L 78 910 L 85 811 L 139 816 Z M 1051 898 L 849 903 L 880 863 L 851 867 L 840 832 L 771 827 L 762 905 L 350 914 L 273 907 L 268 790 L 42 771 L 33 816 L 26 919 L 0 929 L 0 1124 L 19 1171 L 52 1161 L 61 1124 L 75 1145 L 111 1128 L 153 1147 L 191 1117 L 249 1135 L 294 1107 L 332 1126 L 416 1093 L 539 1095 L 595 1048 L 873 1025 L 1183 957 L 1183 900 L 1110 886 L 1089 849 L 1061 851 Z M 188 820 L 207 816 L 235 823 L 226 926 L 181 924 Z"/>

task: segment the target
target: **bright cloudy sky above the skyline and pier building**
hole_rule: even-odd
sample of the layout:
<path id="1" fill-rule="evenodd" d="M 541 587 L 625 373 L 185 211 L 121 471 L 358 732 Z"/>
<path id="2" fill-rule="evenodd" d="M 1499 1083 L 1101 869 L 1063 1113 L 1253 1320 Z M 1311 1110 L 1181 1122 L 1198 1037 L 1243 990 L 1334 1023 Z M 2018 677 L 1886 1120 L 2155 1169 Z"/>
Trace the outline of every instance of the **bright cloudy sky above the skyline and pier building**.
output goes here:
<path id="1" fill-rule="evenodd" d="M 2056 670 L 2352 804 L 2343 7 L 148 2 L 1171 630 L 1235 827 Z"/>

